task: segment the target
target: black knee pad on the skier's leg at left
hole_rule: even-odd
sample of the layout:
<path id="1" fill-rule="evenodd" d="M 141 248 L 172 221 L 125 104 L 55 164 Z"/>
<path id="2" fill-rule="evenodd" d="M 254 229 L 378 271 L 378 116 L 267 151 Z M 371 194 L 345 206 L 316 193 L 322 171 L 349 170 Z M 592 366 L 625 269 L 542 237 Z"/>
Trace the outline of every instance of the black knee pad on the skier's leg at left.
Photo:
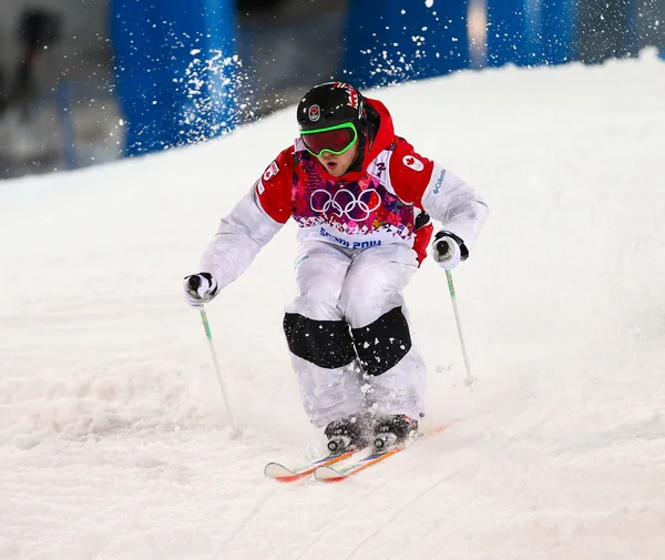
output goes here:
<path id="1" fill-rule="evenodd" d="M 287 313 L 284 334 L 289 350 L 315 366 L 335 369 L 356 359 L 349 326 L 344 320 L 315 320 Z"/>

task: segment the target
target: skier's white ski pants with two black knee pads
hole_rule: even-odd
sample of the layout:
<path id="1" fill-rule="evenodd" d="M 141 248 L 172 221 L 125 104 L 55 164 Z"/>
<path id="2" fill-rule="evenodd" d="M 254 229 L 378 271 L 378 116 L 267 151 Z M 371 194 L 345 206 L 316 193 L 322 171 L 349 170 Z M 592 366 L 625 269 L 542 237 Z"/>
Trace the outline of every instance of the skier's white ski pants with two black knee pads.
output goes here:
<path id="1" fill-rule="evenodd" d="M 315 426 L 367 410 L 412 418 L 423 413 L 427 373 L 402 296 L 417 269 L 416 253 L 406 245 L 300 245 L 298 296 L 286 308 L 285 333 Z"/>

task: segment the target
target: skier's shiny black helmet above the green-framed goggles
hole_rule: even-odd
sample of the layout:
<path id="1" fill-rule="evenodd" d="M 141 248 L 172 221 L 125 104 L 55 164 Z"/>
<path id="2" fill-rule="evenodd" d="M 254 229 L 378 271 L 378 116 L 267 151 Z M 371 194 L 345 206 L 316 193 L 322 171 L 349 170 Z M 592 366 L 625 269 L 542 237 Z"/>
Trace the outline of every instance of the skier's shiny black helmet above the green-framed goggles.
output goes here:
<path id="1" fill-rule="evenodd" d="M 365 99 L 360 92 L 344 82 L 315 85 L 298 103 L 298 125 L 301 131 L 354 123 L 358 134 L 365 132 Z"/>

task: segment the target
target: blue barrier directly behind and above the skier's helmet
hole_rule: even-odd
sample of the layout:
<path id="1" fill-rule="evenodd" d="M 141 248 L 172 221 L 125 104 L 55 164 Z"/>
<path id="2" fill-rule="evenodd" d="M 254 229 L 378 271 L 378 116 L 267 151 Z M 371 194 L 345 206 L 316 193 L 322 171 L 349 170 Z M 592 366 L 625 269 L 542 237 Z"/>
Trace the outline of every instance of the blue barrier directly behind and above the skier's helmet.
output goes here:
<path id="1" fill-rule="evenodd" d="M 468 0 L 442 4 L 351 1 L 344 79 L 358 88 L 371 88 L 469 68 Z"/>

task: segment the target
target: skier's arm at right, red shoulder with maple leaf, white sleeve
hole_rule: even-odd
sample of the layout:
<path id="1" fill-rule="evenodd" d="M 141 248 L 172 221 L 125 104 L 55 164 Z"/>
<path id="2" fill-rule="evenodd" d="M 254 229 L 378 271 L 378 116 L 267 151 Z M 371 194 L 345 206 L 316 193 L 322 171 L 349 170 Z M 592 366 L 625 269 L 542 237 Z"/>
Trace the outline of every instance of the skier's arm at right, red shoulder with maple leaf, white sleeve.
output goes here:
<path id="1" fill-rule="evenodd" d="M 391 159 L 390 176 L 398 196 L 441 222 L 442 230 L 460 244 L 461 258 L 466 259 L 488 215 L 481 196 L 439 163 L 416 153 L 402 139 Z"/>

